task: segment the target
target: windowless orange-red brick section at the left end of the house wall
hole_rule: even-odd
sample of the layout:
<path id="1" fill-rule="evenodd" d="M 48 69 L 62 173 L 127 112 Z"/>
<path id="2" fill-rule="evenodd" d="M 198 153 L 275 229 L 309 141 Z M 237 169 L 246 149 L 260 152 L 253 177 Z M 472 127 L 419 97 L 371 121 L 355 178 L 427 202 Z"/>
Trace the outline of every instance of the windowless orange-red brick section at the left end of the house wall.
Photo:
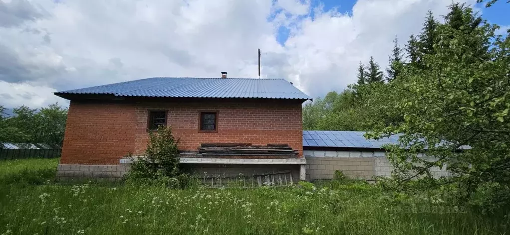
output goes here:
<path id="1" fill-rule="evenodd" d="M 61 164 L 118 164 L 134 152 L 135 107 L 71 102 Z"/>

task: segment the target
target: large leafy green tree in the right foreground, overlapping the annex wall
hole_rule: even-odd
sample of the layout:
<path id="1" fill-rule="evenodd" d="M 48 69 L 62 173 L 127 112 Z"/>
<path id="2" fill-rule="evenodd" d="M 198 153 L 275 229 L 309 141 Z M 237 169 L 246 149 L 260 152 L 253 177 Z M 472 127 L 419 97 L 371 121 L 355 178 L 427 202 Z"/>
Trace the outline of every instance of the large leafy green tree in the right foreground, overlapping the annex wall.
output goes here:
<path id="1" fill-rule="evenodd" d="M 393 102 L 376 105 L 401 112 L 403 122 L 367 137 L 401 134 L 389 151 L 400 187 L 420 178 L 428 187 L 454 186 L 458 201 L 471 203 L 466 199 L 490 188 L 483 207 L 510 205 L 510 38 L 496 37 L 498 26 L 464 5 L 452 4 L 444 19 L 424 67 L 405 66 L 403 79 L 392 83 L 398 93 L 385 94 Z M 459 153 L 466 145 L 471 149 Z M 433 167 L 447 167 L 453 177 L 434 179 Z"/>

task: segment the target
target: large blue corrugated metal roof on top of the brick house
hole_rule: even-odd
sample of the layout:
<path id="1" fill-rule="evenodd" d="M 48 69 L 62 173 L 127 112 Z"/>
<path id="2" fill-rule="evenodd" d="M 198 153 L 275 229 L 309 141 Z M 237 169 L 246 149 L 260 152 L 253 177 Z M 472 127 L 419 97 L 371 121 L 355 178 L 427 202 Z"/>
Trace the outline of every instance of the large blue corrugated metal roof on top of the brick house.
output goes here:
<path id="1" fill-rule="evenodd" d="M 137 97 L 312 99 L 285 79 L 153 77 L 56 92 Z"/>

